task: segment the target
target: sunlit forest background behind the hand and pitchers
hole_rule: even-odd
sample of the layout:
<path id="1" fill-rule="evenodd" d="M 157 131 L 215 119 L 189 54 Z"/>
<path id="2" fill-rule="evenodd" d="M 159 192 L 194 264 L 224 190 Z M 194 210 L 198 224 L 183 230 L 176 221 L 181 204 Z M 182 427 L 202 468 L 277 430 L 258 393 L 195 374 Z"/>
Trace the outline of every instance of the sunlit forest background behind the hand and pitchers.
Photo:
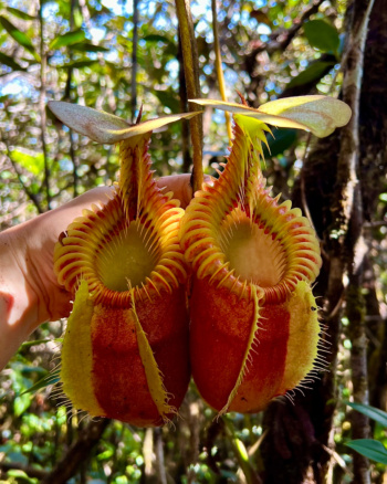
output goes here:
<path id="1" fill-rule="evenodd" d="M 202 97 L 220 98 L 218 39 L 228 101 L 237 90 L 254 107 L 320 93 L 353 109 L 326 139 L 275 129 L 265 152 L 273 193 L 301 207 L 321 240 L 330 371 L 294 404 L 279 399 L 259 414 L 215 419 L 192 386 L 172 428 L 80 421 L 43 380 L 65 320 L 44 324 L 0 375 L 0 482 L 386 482 L 387 418 L 376 409 L 387 401 L 387 0 L 190 7 Z M 172 1 L 1 1 L 0 45 L 1 230 L 116 179 L 115 148 L 64 127 L 48 101 L 128 120 L 139 105 L 144 118 L 188 108 Z M 203 133 L 203 168 L 217 176 L 224 116 L 206 111 Z M 189 136 L 188 123 L 153 136 L 157 175 L 190 171 Z M 372 460 L 347 445 L 358 439 Z"/>

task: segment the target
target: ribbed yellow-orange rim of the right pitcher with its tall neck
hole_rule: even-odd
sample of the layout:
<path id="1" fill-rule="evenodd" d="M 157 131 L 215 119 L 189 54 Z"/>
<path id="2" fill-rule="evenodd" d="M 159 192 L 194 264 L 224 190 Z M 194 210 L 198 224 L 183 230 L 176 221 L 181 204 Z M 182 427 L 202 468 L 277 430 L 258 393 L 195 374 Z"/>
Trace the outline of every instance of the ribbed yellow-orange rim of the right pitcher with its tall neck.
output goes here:
<path id="1" fill-rule="evenodd" d="M 292 209 L 290 201 L 279 203 L 279 197 L 269 194 L 260 168 L 261 144 L 269 128 L 255 120 L 252 135 L 244 122 L 244 116 L 234 116 L 234 139 L 228 162 L 219 179 L 212 186 L 205 185 L 187 208 L 180 244 L 198 278 L 209 277 L 211 285 L 227 287 L 248 299 L 254 292 L 260 305 L 281 303 L 299 281 L 315 280 L 321 266 L 320 246 L 301 210 Z M 232 267 L 236 248 L 229 251 L 228 248 L 236 234 L 242 238 L 248 228 L 263 241 L 264 253 L 259 261 L 247 261 L 247 269 L 249 264 L 269 264 L 268 281 L 243 276 L 238 267 Z"/>

